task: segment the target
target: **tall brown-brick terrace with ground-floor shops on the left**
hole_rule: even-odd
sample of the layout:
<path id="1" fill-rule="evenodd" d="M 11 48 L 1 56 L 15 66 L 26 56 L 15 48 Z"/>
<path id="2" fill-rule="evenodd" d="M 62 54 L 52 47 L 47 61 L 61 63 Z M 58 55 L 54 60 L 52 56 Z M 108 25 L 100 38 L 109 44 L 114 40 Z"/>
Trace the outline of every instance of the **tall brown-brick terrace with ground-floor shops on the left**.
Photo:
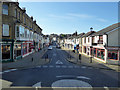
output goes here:
<path id="1" fill-rule="evenodd" d="M 2 12 L 2 60 L 14 61 L 37 51 L 42 29 L 18 2 L 0 2 Z"/>

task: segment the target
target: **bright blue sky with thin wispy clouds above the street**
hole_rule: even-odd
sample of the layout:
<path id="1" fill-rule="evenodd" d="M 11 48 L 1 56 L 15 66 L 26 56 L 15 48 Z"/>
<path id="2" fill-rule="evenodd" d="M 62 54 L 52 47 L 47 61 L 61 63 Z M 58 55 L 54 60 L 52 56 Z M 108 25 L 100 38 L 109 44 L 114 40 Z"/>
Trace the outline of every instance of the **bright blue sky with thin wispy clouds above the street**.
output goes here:
<path id="1" fill-rule="evenodd" d="M 43 34 L 87 33 L 118 22 L 118 2 L 20 2 Z"/>

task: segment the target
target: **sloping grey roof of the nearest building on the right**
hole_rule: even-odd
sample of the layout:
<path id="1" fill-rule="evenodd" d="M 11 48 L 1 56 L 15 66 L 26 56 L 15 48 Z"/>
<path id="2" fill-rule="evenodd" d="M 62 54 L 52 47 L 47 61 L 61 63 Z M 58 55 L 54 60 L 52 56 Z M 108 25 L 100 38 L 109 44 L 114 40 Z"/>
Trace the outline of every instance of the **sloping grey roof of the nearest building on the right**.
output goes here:
<path id="1" fill-rule="evenodd" d="M 96 33 L 94 33 L 92 36 L 97 36 L 97 35 L 104 35 L 104 34 L 107 34 L 107 32 L 110 32 L 116 28 L 120 27 L 120 22 L 119 23 L 115 23 L 115 24 L 112 24 Z"/>

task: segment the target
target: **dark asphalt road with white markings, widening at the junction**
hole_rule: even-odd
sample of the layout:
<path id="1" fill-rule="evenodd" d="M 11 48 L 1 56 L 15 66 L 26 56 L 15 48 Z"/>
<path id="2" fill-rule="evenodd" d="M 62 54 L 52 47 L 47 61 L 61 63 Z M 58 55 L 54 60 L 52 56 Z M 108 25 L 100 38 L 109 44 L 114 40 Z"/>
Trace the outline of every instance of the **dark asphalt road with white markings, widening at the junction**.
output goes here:
<path id="1" fill-rule="evenodd" d="M 12 86 L 118 87 L 118 73 L 115 71 L 72 64 L 66 60 L 68 54 L 55 47 L 43 58 L 47 55 L 49 64 L 4 73 L 2 79 L 13 82 Z"/>

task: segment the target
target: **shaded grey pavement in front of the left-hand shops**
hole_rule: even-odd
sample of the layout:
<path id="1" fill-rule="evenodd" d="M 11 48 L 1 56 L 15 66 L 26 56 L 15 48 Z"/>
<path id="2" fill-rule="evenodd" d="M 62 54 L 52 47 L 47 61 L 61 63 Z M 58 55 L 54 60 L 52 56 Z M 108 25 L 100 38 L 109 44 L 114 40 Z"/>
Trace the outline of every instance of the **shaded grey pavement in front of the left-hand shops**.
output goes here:
<path id="1" fill-rule="evenodd" d="M 25 68 L 32 68 L 35 66 L 46 64 L 49 62 L 49 60 L 42 59 L 42 56 L 45 54 L 46 51 L 47 48 L 44 48 L 39 52 L 32 53 L 15 62 L 2 63 L 2 70 L 4 71 L 8 69 L 25 69 Z M 32 61 L 32 57 L 33 57 L 33 61 Z"/>

